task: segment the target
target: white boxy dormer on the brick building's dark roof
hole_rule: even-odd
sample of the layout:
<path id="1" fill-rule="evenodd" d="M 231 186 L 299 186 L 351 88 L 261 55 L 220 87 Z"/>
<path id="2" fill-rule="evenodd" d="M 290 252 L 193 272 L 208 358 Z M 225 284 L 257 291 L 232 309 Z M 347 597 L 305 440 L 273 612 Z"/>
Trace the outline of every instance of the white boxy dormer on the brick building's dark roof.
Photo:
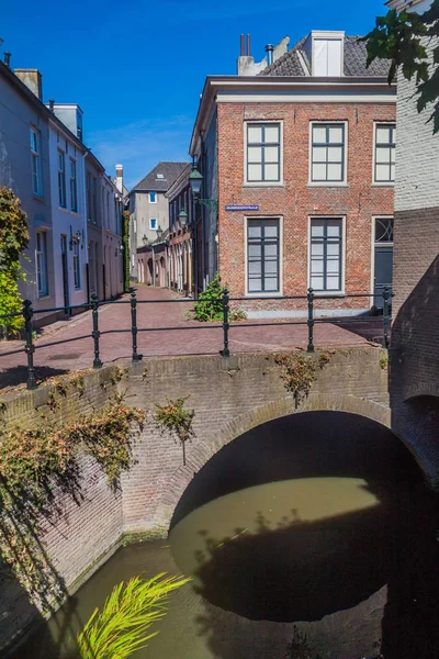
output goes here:
<path id="1" fill-rule="evenodd" d="M 345 32 L 312 32 L 311 55 L 312 75 L 339 78 L 344 75 Z M 311 49 L 311 53 L 309 53 Z"/>

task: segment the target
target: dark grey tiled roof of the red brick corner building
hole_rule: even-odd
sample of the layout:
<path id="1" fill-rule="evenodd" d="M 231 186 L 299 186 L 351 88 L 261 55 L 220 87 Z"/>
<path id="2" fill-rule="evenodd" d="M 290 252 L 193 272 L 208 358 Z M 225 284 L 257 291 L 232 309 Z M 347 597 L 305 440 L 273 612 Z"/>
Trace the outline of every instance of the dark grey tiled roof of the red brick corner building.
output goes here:
<path id="1" fill-rule="evenodd" d="M 345 36 L 345 76 L 352 77 L 387 77 L 390 62 L 375 59 L 365 68 L 365 43 L 359 42 L 359 36 Z M 309 76 L 311 65 L 303 48 L 307 36 L 304 36 L 285 55 L 264 68 L 259 76 Z M 301 60 L 302 58 L 302 60 Z M 305 69 L 308 67 L 308 70 Z"/>

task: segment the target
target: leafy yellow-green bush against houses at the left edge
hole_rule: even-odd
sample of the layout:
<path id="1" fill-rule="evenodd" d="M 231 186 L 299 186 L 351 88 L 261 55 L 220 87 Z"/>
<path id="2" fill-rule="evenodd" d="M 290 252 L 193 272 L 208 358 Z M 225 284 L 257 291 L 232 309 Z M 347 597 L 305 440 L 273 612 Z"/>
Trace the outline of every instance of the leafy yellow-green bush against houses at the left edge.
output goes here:
<path id="1" fill-rule="evenodd" d="M 27 247 L 29 230 L 26 213 L 13 190 L 0 188 L 0 315 L 19 313 L 22 299 L 18 281 L 24 279 L 20 256 Z M 23 326 L 21 315 L 0 319 L 2 334 L 16 334 Z"/>

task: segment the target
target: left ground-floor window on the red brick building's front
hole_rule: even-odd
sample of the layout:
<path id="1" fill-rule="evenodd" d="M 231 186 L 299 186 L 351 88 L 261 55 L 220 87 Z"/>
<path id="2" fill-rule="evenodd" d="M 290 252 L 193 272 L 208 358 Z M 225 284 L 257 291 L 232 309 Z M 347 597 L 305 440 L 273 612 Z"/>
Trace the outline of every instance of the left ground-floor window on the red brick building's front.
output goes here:
<path id="1" fill-rule="evenodd" d="M 247 220 L 247 291 L 280 292 L 279 220 Z"/>

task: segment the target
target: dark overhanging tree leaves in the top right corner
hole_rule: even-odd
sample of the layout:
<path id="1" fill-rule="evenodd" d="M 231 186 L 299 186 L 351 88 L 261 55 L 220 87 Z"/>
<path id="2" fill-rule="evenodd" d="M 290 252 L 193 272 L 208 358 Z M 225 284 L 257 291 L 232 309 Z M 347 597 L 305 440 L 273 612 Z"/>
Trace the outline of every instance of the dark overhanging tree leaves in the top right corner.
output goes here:
<path id="1" fill-rule="evenodd" d="M 434 103 L 430 121 L 439 131 L 439 0 L 424 14 L 391 10 L 376 19 L 375 27 L 362 37 L 367 42 L 368 66 L 376 58 L 391 62 L 389 82 L 399 68 L 407 80 L 415 79 L 418 112 Z M 432 62 L 426 44 L 432 40 Z"/>

